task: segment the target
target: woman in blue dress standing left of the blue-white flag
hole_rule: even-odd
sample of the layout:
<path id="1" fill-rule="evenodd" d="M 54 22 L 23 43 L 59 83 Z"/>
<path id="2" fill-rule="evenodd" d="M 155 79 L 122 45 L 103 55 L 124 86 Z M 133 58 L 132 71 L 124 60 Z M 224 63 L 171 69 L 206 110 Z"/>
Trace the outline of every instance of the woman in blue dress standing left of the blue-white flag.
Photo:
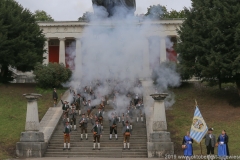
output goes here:
<path id="1" fill-rule="evenodd" d="M 187 131 L 187 135 L 183 137 L 182 141 L 183 154 L 186 156 L 186 160 L 190 160 L 191 156 L 193 156 L 192 143 L 193 139 L 190 137 L 189 131 Z"/>

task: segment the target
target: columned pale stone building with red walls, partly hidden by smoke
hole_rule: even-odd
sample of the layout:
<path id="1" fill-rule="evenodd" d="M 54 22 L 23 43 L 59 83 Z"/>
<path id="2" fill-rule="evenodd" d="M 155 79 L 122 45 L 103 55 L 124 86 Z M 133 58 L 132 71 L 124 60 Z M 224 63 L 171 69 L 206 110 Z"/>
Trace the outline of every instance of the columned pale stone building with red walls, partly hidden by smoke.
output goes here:
<path id="1" fill-rule="evenodd" d="M 153 22 L 133 22 L 132 25 L 142 25 L 150 23 L 151 30 L 146 35 L 146 45 L 148 49 L 146 54 L 151 54 L 151 45 L 159 43 L 159 62 L 176 61 L 176 52 L 173 48 L 166 46 L 165 38 L 176 43 L 176 28 L 182 24 L 182 19 L 160 20 Z M 85 27 L 94 25 L 93 23 L 79 21 L 55 21 L 55 22 L 39 22 L 40 28 L 47 37 L 46 50 L 47 53 L 44 64 L 49 62 L 63 63 L 69 67 L 69 62 L 74 61 L 74 58 L 69 59 L 68 52 L 75 50 L 75 56 L 81 56 L 81 41 L 83 30 Z M 114 24 L 102 24 L 103 27 L 114 27 Z M 66 49 L 67 48 L 67 49 Z M 74 69 L 74 68 L 72 68 Z"/>

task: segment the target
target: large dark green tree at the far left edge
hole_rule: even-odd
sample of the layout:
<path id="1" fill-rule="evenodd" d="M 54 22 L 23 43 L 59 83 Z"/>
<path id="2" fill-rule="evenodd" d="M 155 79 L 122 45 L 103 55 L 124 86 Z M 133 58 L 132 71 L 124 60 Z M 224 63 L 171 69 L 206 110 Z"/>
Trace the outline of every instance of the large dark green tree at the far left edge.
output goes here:
<path id="1" fill-rule="evenodd" d="M 32 13 L 14 0 L 0 1 L 0 82 L 11 80 L 8 67 L 30 71 L 43 61 L 45 37 Z"/>

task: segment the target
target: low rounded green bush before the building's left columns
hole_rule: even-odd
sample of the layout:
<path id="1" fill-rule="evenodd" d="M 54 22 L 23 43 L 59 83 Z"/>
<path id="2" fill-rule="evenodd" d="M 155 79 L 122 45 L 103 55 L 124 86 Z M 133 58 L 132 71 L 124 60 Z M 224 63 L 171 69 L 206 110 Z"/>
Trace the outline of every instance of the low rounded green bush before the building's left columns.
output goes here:
<path id="1" fill-rule="evenodd" d="M 42 88 L 61 87 L 61 84 L 67 82 L 72 75 L 70 69 L 57 63 L 48 65 L 38 63 L 33 73 L 36 75 L 38 85 Z"/>

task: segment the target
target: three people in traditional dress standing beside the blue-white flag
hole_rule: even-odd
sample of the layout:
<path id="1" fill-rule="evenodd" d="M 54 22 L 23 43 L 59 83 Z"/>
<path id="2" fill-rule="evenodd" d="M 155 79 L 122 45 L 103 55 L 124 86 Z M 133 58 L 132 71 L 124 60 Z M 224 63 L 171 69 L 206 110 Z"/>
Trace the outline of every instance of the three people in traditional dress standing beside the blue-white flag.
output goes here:
<path id="1" fill-rule="evenodd" d="M 228 149 L 228 135 L 225 130 L 222 130 L 222 133 L 216 139 L 216 136 L 213 134 L 213 128 L 208 129 L 208 133 L 204 136 L 205 145 L 207 150 L 207 159 L 213 160 L 216 159 L 214 154 L 215 147 L 218 148 L 217 156 L 221 160 L 226 160 L 229 154 Z M 186 156 L 186 160 L 190 160 L 193 155 L 192 147 L 193 139 L 190 137 L 189 132 L 183 137 L 182 148 L 183 154 Z"/>

